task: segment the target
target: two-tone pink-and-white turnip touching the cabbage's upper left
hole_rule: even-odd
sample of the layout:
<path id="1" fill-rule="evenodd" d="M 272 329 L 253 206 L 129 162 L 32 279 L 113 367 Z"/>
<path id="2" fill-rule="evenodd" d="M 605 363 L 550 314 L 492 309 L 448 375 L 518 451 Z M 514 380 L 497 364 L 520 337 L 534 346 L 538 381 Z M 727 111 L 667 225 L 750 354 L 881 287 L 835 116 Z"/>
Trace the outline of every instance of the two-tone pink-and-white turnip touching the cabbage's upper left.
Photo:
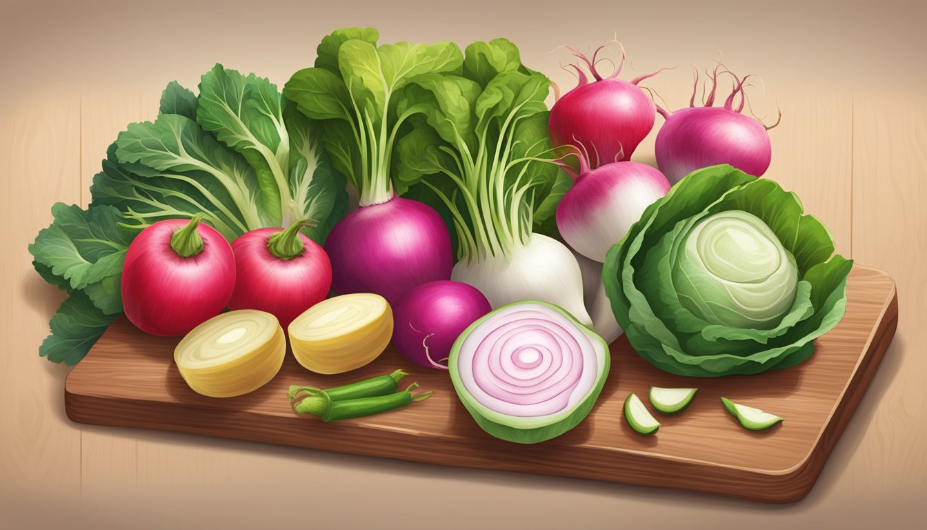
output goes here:
<path id="1" fill-rule="evenodd" d="M 585 157 L 574 154 L 578 174 L 561 164 L 576 182 L 557 205 L 557 228 L 574 251 L 602 263 L 641 213 L 667 194 L 669 181 L 640 162 L 611 162 L 590 170 Z"/>

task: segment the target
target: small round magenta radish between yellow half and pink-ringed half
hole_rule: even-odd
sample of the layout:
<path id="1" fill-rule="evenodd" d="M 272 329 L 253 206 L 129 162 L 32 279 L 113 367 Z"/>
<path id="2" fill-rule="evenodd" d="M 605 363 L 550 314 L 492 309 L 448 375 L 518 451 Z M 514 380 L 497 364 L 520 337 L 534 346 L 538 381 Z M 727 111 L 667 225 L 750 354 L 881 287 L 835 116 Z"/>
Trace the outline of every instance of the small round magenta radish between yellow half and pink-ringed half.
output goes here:
<path id="1" fill-rule="evenodd" d="M 466 283 L 423 283 L 393 304 L 393 345 L 413 363 L 448 369 L 457 337 L 492 311 L 483 293 Z"/>

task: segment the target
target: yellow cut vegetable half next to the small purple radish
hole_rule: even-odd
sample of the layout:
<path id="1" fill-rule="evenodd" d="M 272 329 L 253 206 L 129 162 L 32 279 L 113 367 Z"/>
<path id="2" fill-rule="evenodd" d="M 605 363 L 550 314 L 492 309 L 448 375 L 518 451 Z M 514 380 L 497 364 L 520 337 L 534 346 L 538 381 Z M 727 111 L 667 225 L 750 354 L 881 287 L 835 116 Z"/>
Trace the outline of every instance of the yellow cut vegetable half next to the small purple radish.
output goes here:
<path id="1" fill-rule="evenodd" d="M 300 365 L 316 373 L 342 373 L 383 353 L 393 333 L 393 312 L 379 294 L 344 294 L 307 309 L 288 332 Z"/>

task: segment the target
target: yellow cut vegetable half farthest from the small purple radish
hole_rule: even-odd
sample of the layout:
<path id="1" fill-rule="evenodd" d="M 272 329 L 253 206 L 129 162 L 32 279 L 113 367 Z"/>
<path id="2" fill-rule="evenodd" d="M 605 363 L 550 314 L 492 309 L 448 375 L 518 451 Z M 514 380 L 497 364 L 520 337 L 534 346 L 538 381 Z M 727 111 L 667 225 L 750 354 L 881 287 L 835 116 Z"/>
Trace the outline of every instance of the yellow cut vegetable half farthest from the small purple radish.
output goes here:
<path id="1" fill-rule="evenodd" d="M 248 394 L 273 379 L 286 354 L 276 317 L 254 309 L 230 311 L 203 322 L 177 344 L 174 362 L 197 394 Z"/>

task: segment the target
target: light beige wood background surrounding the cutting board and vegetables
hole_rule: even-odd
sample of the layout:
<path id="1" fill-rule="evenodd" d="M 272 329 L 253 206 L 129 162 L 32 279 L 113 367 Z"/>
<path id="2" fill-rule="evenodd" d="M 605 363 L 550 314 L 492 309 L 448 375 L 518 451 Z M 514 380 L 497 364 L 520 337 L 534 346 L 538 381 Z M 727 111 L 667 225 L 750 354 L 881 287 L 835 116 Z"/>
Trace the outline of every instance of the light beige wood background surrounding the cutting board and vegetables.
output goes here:
<path id="1" fill-rule="evenodd" d="M 78 5 L 80 4 L 80 5 Z M 0 528 L 283 525 L 377 528 L 921 527 L 927 520 L 927 37 L 924 3 L 535 1 L 0 3 Z M 332 29 L 384 41 L 507 36 L 571 86 L 564 50 L 616 33 L 627 78 L 688 101 L 689 65 L 760 74 L 768 176 L 832 229 L 838 250 L 897 282 L 895 342 L 818 485 L 765 506 L 679 491 L 97 428 L 64 415 L 68 368 L 38 345 L 62 296 L 26 245 L 55 201 L 86 204 L 104 151 L 152 119 L 173 79 L 220 61 L 283 84 Z M 723 52 L 723 55 L 719 55 Z M 658 124 L 659 124 L 658 119 Z M 653 135 L 635 159 L 653 162 Z M 616 419 L 618 420 L 618 419 Z M 696 522 L 696 523 L 693 523 Z"/>

